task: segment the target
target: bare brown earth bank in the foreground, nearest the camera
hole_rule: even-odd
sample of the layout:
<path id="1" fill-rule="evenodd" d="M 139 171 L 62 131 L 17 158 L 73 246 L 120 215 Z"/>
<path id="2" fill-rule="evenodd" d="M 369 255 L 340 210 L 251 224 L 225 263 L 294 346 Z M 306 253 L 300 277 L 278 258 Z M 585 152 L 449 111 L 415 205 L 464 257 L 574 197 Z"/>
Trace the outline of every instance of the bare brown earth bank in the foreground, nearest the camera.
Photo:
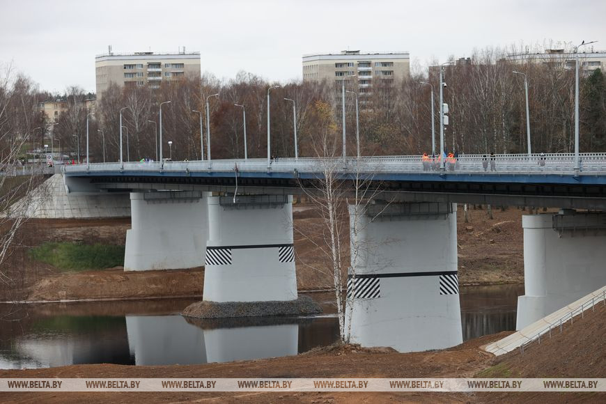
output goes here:
<path id="1" fill-rule="evenodd" d="M 391 348 L 364 349 L 332 345 L 290 357 L 189 366 L 75 365 L 57 368 L 0 370 L 0 378 L 604 378 L 606 376 L 606 307 L 586 311 L 584 318 L 566 323 L 564 331 L 494 357 L 481 349 L 501 339 L 501 332 L 469 340 L 446 350 L 398 353 Z M 65 403 L 130 402 L 133 393 L 0 393 L 2 401 Z M 263 393 L 214 392 L 138 393 L 149 403 L 191 400 L 221 402 L 520 402 L 602 401 L 605 394 L 575 393 Z"/>

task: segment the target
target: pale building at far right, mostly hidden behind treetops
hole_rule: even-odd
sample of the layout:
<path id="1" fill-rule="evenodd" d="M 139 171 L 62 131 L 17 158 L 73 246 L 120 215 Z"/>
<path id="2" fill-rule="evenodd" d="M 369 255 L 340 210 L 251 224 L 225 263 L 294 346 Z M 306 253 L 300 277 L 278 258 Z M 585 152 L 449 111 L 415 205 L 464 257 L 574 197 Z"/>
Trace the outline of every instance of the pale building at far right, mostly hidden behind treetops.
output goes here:
<path id="1" fill-rule="evenodd" d="M 546 63 L 550 65 L 561 65 L 566 69 L 574 69 L 576 54 L 566 52 L 564 49 L 545 49 L 545 53 L 510 54 L 510 61 L 533 63 Z M 593 70 L 606 69 L 606 51 L 579 52 L 579 71 L 583 75 L 589 75 Z"/>

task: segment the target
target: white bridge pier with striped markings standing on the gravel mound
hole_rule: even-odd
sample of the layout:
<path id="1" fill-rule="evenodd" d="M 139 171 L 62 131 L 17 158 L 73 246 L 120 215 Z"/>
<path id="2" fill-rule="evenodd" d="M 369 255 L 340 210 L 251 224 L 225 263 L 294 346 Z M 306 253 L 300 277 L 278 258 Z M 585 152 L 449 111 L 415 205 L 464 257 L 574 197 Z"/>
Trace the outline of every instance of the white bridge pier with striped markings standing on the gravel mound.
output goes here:
<path id="1" fill-rule="evenodd" d="M 208 226 L 205 301 L 297 299 L 292 196 L 212 196 Z"/>

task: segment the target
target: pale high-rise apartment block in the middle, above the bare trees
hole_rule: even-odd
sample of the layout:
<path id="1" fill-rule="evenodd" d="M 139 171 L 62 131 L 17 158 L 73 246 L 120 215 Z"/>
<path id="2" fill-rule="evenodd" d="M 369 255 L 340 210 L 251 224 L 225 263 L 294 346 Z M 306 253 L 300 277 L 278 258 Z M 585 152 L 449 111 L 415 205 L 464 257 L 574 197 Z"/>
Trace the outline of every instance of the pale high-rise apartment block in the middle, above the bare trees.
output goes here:
<path id="1" fill-rule="evenodd" d="M 408 52 L 342 51 L 303 56 L 303 81 L 335 81 L 357 77 L 359 93 L 371 93 L 373 83 L 392 84 L 410 75 Z"/>

